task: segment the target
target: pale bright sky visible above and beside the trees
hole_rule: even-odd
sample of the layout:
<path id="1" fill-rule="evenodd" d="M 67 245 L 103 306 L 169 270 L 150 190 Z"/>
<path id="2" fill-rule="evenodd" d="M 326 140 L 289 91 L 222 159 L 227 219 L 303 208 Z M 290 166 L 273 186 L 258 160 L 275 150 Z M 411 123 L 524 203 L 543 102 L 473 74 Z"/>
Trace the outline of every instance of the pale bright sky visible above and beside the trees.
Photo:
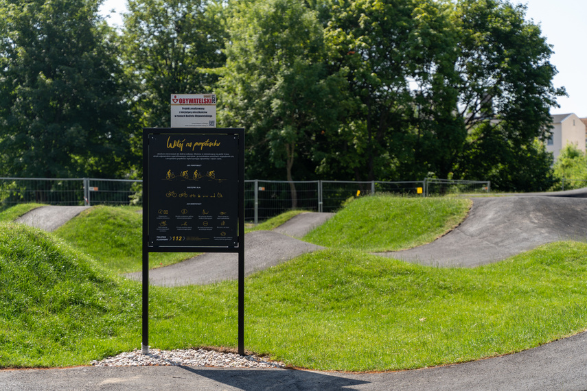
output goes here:
<path id="1" fill-rule="evenodd" d="M 582 43 L 587 38 L 585 0 L 509 0 L 527 5 L 526 19 L 540 25 L 546 42 L 553 45 L 551 56 L 558 74 L 555 87 L 564 86 L 568 97 L 559 97 L 560 108 L 551 108 L 551 114 L 575 113 L 587 117 L 587 51 Z M 116 10 L 111 13 L 110 10 Z M 105 0 L 100 12 L 108 15 L 108 23 L 122 26 L 126 0 Z"/>

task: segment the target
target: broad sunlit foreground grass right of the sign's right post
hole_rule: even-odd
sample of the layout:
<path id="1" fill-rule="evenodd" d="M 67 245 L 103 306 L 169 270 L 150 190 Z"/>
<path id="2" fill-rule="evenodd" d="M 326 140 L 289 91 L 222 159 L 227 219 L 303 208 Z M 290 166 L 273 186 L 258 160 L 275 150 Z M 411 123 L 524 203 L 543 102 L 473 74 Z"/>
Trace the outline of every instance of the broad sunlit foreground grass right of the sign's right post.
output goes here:
<path id="1" fill-rule="evenodd" d="M 324 250 L 253 276 L 249 346 L 319 370 L 401 370 L 522 351 L 587 328 L 587 244 L 479 268 Z"/>

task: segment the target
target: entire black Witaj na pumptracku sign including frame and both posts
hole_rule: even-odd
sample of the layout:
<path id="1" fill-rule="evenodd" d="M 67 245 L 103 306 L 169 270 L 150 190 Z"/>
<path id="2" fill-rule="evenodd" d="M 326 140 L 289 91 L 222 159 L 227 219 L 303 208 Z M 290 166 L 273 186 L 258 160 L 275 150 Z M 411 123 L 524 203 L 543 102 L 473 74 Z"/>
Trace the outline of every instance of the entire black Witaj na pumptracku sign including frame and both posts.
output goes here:
<path id="1" fill-rule="evenodd" d="M 238 353 L 244 355 L 243 128 L 143 128 L 143 354 L 149 351 L 149 252 L 238 253 Z"/>

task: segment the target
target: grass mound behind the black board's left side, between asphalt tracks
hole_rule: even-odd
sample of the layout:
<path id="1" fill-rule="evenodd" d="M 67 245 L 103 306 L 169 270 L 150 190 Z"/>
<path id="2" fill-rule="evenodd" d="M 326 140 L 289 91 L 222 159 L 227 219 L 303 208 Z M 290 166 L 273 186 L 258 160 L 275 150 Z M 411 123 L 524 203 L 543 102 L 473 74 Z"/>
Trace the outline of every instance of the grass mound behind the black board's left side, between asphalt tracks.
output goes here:
<path id="1" fill-rule="evenodd" d="M 78 250 L 109 270 L 139 272 L 142 268 L 142 215 L 139 206 L 94 206 L 55 230 Z M 149 268 L 170 265 L 196 253 L 154 252 Z"/>

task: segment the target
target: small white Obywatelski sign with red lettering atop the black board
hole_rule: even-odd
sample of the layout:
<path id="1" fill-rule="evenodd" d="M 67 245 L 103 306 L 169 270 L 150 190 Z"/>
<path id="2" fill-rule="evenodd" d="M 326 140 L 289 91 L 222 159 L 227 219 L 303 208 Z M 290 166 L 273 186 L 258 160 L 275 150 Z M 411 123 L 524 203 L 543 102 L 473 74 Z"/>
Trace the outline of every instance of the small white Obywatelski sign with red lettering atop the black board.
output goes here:
<path id="1" fill-rule="evenodd" d="M 172 128 L 216 128 L 216 94 L 172 94 Z"/>

